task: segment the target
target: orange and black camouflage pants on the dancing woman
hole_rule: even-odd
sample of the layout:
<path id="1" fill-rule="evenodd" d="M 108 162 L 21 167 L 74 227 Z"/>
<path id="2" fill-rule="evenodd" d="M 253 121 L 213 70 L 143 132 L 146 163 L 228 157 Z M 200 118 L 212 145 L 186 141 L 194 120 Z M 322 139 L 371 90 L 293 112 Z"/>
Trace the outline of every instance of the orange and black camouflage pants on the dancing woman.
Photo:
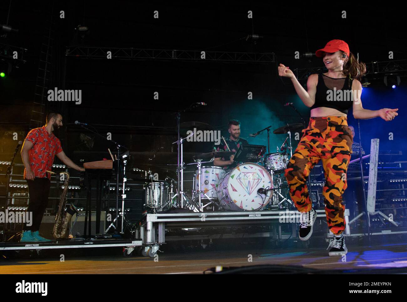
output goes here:
<path id="1" fill-rule="evenodd" d="M 346 171 L 352 154 L 352 130 L 348 127 L 346 116 L 311 117 L 302 134 L 284 173 L 291 199 L 298 211 L 311 211 L 312 202 L 306 181 L 315 164 L 322 160 L 326 180 L 322 193 L 326 221 L 330 231 L 339 235 L 346 223 L 342 194 L 347 188 Z"/>

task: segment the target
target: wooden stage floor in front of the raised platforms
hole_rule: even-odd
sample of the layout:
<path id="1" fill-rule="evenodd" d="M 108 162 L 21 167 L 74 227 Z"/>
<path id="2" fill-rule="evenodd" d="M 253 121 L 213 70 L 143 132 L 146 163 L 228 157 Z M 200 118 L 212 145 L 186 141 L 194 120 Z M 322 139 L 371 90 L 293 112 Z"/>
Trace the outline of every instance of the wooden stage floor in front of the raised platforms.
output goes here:
<path id="1" fill-rule="evenodd" d="M 405 267 L 407 244 L 348 246 L 346 261 L 330 257 L 324 248 L 308 250 L 228 250 L 199 252 L 158 252 L 154 258 L 134 255 L 102 257 L 66 257 L 48 259 L 3 259 L 1 274 L 202 274 L 222 265 L 297 265 L 318 270 Z M 248 261 L 252 255 L 252 262 Z"/>

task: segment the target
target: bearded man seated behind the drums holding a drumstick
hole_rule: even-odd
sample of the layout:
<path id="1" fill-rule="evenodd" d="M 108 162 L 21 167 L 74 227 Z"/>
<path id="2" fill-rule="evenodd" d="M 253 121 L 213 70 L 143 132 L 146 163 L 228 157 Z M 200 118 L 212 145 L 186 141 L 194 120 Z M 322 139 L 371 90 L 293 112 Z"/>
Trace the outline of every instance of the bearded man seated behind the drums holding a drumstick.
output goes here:
<path id="1" fill-rule="evenodd" d="M 228 132 L 230 133 L 230 136 L 228 138 L 225 138 L 227 146 L 223 139 L 221 139 L 221 143 L 216 149 L 217 152 L 229 150 L 232 152 L 236 152 L 237 149 L 239 149 L 240 145 L 248 144 L 247 140 L 240 138 L 240 121 L 235 119 L 230 120 L 228 123 Z M 230 156 L 229 160 L 226 160 L 225 157 L 218 157 L 215 158 L 215 160 L 213 161 L 213 165 L 224 167 L 225 169 L 231 169 L 237 166 L 237 163 L 233 159 L 234 155 Z"/>

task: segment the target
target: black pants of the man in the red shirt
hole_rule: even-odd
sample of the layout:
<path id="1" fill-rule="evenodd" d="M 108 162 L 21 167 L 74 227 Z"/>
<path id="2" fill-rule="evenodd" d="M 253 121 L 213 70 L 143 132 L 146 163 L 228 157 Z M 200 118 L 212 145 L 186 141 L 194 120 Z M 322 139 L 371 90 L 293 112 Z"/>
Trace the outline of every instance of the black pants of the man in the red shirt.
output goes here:
<path id="1" fill-rule="evenodd" d="M 44 211 L 48 205 L 48 195 L 50 192 L 51 182 L 46 178 L 35 177 L 35 180 L 28 180 L 28 192 L 30 193 L 30 204 L 28 212 L 33 213 L 33 222 L 30 227 L 25 225 L 24 231 L 38 231 L 39 225 L 44 216 Z"/>

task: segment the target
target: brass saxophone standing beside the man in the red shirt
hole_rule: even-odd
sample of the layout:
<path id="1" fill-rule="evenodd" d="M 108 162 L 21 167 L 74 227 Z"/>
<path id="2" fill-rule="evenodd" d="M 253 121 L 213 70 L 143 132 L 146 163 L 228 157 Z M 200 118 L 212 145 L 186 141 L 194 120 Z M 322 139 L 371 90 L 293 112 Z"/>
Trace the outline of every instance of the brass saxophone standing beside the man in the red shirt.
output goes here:
<path id="1" fill-rule="evenodd" d="M 65 174 L 65 182 L 63 183 L 63 191 L 61 198 L 59 199 L 59 206 L 57 214 L 55 215 L 55 224 L 53 230 L 53 236 L 55 239 L 65 238 L 68 231 L 68 224 L 71 217 L 78 213 L 74 205 L 71 205 L 68 209 L 65 210 L 66 205 L 66 190 L 68 189 L 69 173 L 61 172 L 60 174 Z"/>

